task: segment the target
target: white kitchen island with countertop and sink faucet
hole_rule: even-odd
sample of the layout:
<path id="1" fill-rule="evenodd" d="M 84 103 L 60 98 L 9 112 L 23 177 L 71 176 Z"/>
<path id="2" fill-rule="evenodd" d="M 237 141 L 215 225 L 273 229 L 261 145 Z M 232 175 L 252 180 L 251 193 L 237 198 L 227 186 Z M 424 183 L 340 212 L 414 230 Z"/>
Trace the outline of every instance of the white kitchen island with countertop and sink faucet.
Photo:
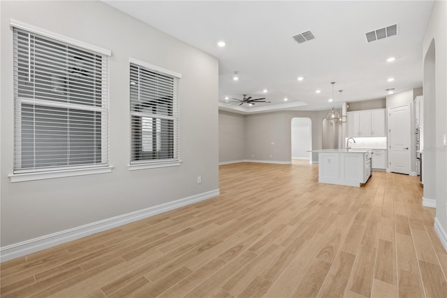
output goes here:
<path id="1" fill-rule="evenodd" d="M 371 151 L 323 149 L 318 152 L 318 182 L 360 186 L 371 176 Z"/>

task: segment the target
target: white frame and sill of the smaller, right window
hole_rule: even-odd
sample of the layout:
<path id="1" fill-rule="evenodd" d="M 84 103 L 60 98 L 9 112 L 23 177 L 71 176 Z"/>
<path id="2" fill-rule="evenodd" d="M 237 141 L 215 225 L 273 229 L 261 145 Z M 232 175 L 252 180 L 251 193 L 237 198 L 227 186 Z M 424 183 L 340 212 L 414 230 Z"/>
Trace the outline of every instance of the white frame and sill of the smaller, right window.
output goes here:
<path id="1" fill-rule="evenodd" d="M 129 58 L 129 86 L 131 86 L 131 67 L 132 65 L 138 66 L 138 68 L 147 69 L 148 71 L 153 71 L 156 73 L 160 73 L 164 76 L 170 76 L 175 80 L 175 90 L 173 94 L 173 115 L 172 116 L 166 116 L 163 114 L 157 114 L 155 113 L 140 113 L 138 111 L 132 111 L 132 99 L 130 97 L 131 89 L 129 87 L 129 117 L 130 117 L 130 125 L 129 125 L 129 131 L 130 131 L 130 162 L 129 162 L 129 171 L 133 170 L 140 170 L 140 169 L 152 169 L 152 168 L 159 168 L 159 167 L 165 167 L 165 166 L 179 166 L 182 164 L 182 160 L 180 159 L 180 146 L 179 146 L 179 134 L 180 134 L 180 117 L 179 117 L 179 79 L 182 78 L 182 75 L 180 73 L 176 73 L 175 71 L 170 71 L 168 69 L 163 69 L 160 66 L 155 66 L 153 64 L 149 64 L 147 62 L 143 62 L 141 60 L 135 59 L 135 58 Z M 174 157 L 172 159 L 140 159 L 140 160 L 134 160 L 134 139 L 133 139 L 133 117 L 149 117 L 152 118 L 152 121 L 154 119 L 156 121 L 158 120 L 173 120 L 173 155 Z M 154 117 L 152 117 L 154 116 Z M 156 117 L 155 117 L 156 116 Z M 140 120 L 140 127 L 142 129 L 142 119 Z M 161 128 L 163 129 L 163 128 Z M 155 135 L 156 132 L 153 134 Z M 155 140 L 156 142 L 157 140 Z M 141 145 L 142 146 L 142 145 Z M 148 153 L 149 154 L 149 153 Z"/>

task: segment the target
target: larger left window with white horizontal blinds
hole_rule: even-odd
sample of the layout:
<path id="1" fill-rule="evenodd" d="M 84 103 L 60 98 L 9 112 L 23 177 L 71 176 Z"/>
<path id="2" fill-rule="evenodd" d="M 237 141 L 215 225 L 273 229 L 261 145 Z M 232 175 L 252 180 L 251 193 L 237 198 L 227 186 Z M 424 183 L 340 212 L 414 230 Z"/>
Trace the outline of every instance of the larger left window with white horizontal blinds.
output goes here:
<path id="1" fill-rule="evenodd" d="M 107 57 L 13 28 L 14 173 L 108 164 Z"/>

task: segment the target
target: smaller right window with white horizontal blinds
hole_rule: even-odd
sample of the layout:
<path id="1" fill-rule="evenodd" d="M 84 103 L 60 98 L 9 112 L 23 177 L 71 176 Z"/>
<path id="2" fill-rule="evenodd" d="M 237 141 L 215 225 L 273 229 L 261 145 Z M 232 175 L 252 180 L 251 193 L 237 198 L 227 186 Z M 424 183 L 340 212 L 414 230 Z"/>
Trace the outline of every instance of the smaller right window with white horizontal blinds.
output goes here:
<path id="1" fill-rule="evenodd" d="M 130 65 L 131 164 L 179 161 L 179 77 Z"/>

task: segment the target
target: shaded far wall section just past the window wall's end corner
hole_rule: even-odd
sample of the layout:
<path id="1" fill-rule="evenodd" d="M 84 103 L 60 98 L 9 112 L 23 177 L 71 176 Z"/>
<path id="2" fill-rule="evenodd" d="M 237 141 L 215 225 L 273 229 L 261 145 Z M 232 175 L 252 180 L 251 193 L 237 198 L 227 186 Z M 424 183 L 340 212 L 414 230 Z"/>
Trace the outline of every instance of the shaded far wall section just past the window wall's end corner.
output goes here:
<path id="1" fill-rule="evenodd" d="M 245 116 L 219 111 L 219 162 L 245 159 Z"/>

